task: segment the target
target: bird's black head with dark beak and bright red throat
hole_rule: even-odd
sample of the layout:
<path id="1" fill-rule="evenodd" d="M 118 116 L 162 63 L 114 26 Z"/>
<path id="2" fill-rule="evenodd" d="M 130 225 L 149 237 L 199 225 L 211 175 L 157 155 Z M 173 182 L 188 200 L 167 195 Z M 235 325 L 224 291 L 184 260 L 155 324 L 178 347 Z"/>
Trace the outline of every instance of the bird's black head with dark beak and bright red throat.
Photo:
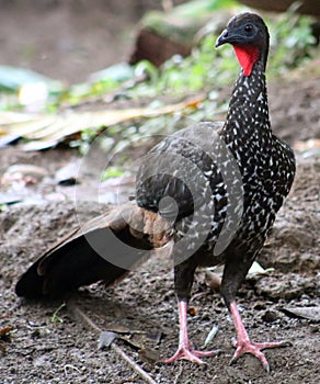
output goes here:
<path id="1" fill-rule="evenodd" d="M 266 65 L 268 32 L 262 18 L 255 13 L 240 13 L 233 16 L 216 42 L 216 48 L 230 43 L 236 52 L 244 76 L 250 76 L 254 63 Z"/>

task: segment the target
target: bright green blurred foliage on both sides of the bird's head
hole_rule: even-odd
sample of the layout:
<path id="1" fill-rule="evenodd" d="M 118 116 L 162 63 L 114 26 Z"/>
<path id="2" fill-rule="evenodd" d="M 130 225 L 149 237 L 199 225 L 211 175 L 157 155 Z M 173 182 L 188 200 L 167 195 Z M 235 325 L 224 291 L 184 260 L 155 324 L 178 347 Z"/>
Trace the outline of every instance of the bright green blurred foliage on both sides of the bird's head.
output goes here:
<path id="1" fill-rule="evenodd" d="M 272 76 L 279 76 L 312 57 L 315 37 L 311 19 L 288 12 L 276 20 L 268 20 L 271 30 L 271 55 L 268 67 Z M 201 90 L 209 90 L 236 79 L 239 65 L 230 47 L 215 49 L 217 36 L 205 36 L 191 56 L 174 56 L 160 69 L 150 63 L 138 64 L 136 70 L 146 69 L 149 81 L 137 84 L 129 95 L 152 97 L 170 94 L 181 97 Z"/>

